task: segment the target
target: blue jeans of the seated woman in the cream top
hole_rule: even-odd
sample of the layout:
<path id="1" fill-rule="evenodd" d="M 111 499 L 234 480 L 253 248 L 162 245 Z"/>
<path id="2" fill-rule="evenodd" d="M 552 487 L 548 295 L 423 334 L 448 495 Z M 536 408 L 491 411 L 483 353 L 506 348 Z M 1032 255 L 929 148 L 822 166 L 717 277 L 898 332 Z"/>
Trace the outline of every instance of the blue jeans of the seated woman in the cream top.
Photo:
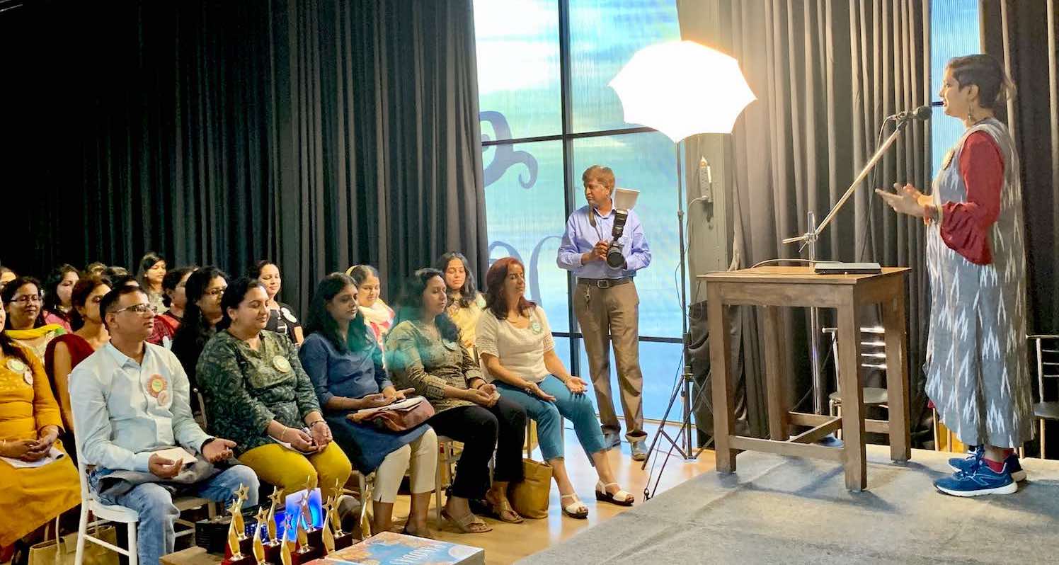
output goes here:
<path id="1" fill-rule="evenodd" d="M 536 394 L 528 394 L 520 388 L 513 387 L 500 381 L 493 381 L 497 389 L 505 399 L 510 399 L 526 410 L 526 416 L 537 422 L 537 440 L 540 442 L 540 454 L 545 461 L 562 457 L 562 419 L 574 424 L 574 432 L 585 453 L 592 459 L 592 454 L 606 447 L 603 443 L 603 431 L 595 408 L 587 393 L 574 394 L 567 385 L 555 375 L 548 375 L 538 383 L 540 389 L 555 396 L 555 402 L 548 402 Z"/>

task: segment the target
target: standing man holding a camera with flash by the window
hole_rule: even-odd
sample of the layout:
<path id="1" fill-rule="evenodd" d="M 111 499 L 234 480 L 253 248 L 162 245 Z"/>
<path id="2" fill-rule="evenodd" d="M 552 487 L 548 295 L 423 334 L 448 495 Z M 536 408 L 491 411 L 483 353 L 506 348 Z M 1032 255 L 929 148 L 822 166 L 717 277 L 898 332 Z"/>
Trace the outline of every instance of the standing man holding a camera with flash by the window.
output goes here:
<path id="1" fill-rule="evenodd" d="M 588 167 L 581 174 L 581 182 L 589 205 L 567 220 L 556 262 L 577 277 L 574 313 L 585 336 L 604 444 L 610 447 L 622 441 L 622 425 L 614 413 L 610 390 L 610 342 L 613 342 L 628 428 L 625 437 L 631 445 L 632 459 L 642 461 L 647 458 L 647 434 L 641 398 L 640 297 L 632 278 L 651 263 L 651 251 L 636 213 L 614 210 L 611 199 L 614 172 L 610 167 L 595 164 Z"/>

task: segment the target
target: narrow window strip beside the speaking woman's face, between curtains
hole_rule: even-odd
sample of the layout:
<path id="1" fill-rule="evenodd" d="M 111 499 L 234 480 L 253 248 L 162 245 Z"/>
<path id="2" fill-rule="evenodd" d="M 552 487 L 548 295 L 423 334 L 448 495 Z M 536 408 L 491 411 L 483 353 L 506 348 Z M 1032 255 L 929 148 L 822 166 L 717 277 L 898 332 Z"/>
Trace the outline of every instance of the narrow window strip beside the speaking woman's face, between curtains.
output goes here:
<path id="1" fill-rule="evenodd" d="M 964 122 L 945 114 L 941 108 L 941 81 L 945 65 L 952 57 L 982 52 L 979 33 L 979 0 L 933 0 L 930 15 L 931 72 L 931 157 L 933 174 L 941 170 L 941 160 L 959 136 Z M 926 191 L 925 191 L 926 192 Z"/>

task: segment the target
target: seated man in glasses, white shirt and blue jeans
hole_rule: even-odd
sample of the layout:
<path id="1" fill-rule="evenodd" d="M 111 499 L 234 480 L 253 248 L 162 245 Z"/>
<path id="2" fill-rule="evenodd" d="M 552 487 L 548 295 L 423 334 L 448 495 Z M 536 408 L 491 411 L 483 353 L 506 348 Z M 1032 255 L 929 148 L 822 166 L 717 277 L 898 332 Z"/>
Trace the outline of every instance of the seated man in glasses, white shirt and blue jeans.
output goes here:
<path id="1" fill-rule="evenodd" d="M 172 352 L 147 343 L 155 313 L 147 295 L 115 287 L 100 301 L 110 342 L 70 374 L 70 396 L 80 456 L 95 465 L 89 485 L 105 504 L 139 514 L 140 563 L 172 553 L 179 511 L 174 496 L 231 501 L 247 488 L 246 506 L 257 504 L 257 477 L 230 464 L 235 442 L 211 437 L 192 417 L 190 388 Z M 197 458 L 185 465 L 157 452 L 183 447 Z M 80 527 L 87 515 L 82 513 Z"/>

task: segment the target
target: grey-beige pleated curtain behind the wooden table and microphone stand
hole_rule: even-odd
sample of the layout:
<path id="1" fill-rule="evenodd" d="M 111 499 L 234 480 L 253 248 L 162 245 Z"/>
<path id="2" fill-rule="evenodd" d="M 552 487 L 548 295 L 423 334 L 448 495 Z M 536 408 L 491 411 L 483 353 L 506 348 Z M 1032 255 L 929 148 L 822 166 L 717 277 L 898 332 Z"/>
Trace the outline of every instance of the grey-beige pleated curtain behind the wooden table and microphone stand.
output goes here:
<path id="1" fill-rule="evenodd" d="M 814 212 L 818 223 L 824 218 L 870 158 L 886 116 L 930 102 L 926 2 L 720 0 L 717 5 L 723 37 L 715 47 L 739 60 L 757 95 L 729 139 L 733 162 L 726 182 L 734 200 L 738 266 L 805 257 L 779 241 L 807 230 L 807 212 Z M 686 10 L 698 6 L 682 4 L 682 19 L 692 16 Z M 896 181 L 928 190 L 928 127 L 912 124 L 879 163 L 874 183 L 869 179 L 857 190 L 818 247 L 821 259 L 912 267 L 908 296 L 914 421 L 926 408 L 920 370 L 929 312 L 923 228 L 915 218 L 887 213 L 874 201 L 872 190 Z M 764 435 L 761 328 L 756 315 L 741 310 L 749 424 Z M 793 308 L 784 319 L 787 366 L 795 368 L 788 398 L 801 399 L 801 409 L 809 410 L 808 311 Z M 830 313 L 823 311 L 824 325 L 829 319 Z M 828 346 L 821 336 L 822 357 Z M 830 363 L 823 370 L 833 386 Z"/>

